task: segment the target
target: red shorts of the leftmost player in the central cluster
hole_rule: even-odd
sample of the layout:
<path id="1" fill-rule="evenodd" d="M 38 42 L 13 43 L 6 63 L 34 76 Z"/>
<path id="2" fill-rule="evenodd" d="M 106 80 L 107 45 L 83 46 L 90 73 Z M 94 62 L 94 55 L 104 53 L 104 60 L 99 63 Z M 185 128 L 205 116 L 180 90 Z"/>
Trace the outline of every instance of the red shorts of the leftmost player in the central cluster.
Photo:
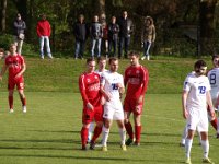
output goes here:
<path id="1" fill-rule="evenodd" d="M 103 106 L 95 106 L 93 110 L 88 109 L 87 107 L 83 108 L 82 114 L 82 122 L 90 124 L 93 120 L 95 121 L 103 121 Z"/>

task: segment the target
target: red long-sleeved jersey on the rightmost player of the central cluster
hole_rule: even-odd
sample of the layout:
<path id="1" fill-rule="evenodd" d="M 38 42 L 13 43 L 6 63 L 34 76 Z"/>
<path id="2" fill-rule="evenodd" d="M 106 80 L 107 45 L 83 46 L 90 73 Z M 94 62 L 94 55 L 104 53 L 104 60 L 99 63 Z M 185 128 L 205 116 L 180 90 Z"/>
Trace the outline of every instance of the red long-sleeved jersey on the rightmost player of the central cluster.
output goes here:
<path id="1" fill-rule="evenodd" d="M 149 73 L 145 67 L 128 67 L 124 77 L 124 84 L 127 85 L 126 98 L 138 98 L 140 95 L 145 95 L 148 81 Z"/>

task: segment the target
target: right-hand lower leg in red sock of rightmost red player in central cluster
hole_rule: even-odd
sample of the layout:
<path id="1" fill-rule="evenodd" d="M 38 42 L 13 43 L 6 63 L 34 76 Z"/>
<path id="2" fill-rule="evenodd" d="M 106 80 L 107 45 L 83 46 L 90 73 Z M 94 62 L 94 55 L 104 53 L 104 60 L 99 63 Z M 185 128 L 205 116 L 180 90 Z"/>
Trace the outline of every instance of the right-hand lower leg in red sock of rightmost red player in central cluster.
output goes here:
<path id="1" fill-rule="evenodd" d="M 141 115 L 134 114 L 134 121 L 135 121 L 135 136 L 136 136 L 136 145 L 140 145 L 140 136 L 141 136 Z"/>

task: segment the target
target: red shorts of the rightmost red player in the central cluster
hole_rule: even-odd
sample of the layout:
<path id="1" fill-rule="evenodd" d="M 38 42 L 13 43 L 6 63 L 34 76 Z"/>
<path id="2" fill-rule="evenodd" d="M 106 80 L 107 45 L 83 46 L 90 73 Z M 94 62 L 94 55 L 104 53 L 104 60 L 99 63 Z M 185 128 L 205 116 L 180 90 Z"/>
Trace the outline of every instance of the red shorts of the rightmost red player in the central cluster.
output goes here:
<path id="1" fill-rule="evenodd" d="M 139 110 L 136 110 L 136 107 L 138 106 Z M 125 98 L 124 101 L 124 110 L 134 113 L 135 115 L 141 115 L 143 109 L 143 102 L 139 105 L 137 105 L 136 98 Z"/>

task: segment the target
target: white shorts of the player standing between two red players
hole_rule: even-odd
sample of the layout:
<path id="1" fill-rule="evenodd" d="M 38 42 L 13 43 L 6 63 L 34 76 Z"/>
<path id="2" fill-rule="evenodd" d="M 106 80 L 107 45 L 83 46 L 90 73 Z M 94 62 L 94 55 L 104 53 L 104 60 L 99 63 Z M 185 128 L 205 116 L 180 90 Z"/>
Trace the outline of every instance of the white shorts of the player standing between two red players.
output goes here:
<path id="1" fill-rule="evenodd" d="M 124 110 L 122 103 L 118 104 L 110 104 L 106 103 L 104 105 L 103 118 L 107 118 L 111 120 L 123 120 L 124 119 Z"/>

